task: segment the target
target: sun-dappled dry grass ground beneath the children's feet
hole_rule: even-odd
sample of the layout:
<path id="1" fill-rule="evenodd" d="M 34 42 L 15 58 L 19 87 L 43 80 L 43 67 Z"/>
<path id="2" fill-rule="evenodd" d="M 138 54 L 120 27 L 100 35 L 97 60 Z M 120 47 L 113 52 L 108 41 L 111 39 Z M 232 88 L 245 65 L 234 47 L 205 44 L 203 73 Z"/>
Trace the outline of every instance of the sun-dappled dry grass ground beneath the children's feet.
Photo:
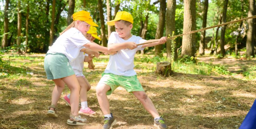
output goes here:
<path id="1" fill-rule="evenodd" d="M 46 79 L 42 55 L 28 55 L 30 59 L 14 59 L 11 65 L 30 74 L 11 74 L 0 78 L 0 128 L 39 129 L 98 129 L 102 127 L 102 112 L 95 92 L 101 73 L 107 65 L 107 56 L 94 61 L 95 71 L 84 69 L 92 85 L 88 92 L 88 105 L 96 115 L 86 116 L 86 126 L 70 126 L 66 120 L 70 107 L 58 102 L 59 118 L 47 117 L 51 103 L 52 81 Z M 33 60 L 34 59 L 34 60 Z M 25 63 L 23 65 L 23 63 Z M 138 62 L 137 62 L 138 64 Z M 155 67 L 151 63 L 140 63 Z M 254 62 L 255 64 L 255 62 Z M 176 73 L 160 77 L 151 69 L 136 68 L 147 95 L 159 114 L 163 114 L 171 129 L 234 129 L 238 128 L 256 97 L 256 83 L 231 76 L 201 76 Z M 26 72 L 25 72 L 26 73 Z M 63 95 L 69 93 L 66 87 Z M 152 116 L 142 104 L 125 89 L 118 88 L 108 96 L 111 112 L 118 120 L 115 129 L 155 129 Z"/>

